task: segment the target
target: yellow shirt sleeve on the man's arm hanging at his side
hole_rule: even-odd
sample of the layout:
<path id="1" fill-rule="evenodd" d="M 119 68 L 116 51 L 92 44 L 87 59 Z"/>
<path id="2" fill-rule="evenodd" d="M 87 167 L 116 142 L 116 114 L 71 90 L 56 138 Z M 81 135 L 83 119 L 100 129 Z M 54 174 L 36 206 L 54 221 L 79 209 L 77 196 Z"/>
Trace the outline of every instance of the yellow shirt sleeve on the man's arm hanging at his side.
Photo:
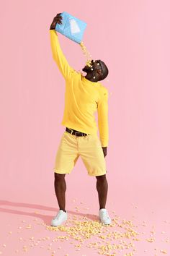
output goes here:
<path id="1" fill-rule="evenodd" d="M 108 90 L 104 88 L 102 95 L 97 103 L 99 138 L 102 147 L 107 147 L 109 142 L 109 124 L 108 124 Z"/>

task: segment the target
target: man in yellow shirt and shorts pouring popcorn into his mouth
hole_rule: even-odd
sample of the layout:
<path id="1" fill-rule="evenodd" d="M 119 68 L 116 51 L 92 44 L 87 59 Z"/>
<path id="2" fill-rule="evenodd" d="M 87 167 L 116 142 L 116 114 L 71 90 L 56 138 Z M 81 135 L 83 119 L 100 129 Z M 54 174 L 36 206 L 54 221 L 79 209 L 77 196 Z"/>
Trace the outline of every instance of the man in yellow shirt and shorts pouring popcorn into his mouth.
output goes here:
<path id="1" fill-rule="evenodd" d="M 61 14 L 57 14 L 50 25 L 50 43 L 53 59 L 66 81 L 65 109 L 61 142 L 55 158 L 55 195 L 60 210 L 51 221 L 51 226 L 60 226 L 67 220 L 66 212 L 66 174 L 70 174 L 79 156 L 90 176 L 97 178 L 99 195 L 99 219 L 104 224 L 111 223 L 105 209 L 107 201 L 106 162 L 108 145 L 108 91 L 98 81 L 107 77 L 108 69 L 103 61 L 91 61 L 91 67 L 81 72 L 71 68 L 63 55 L 55 31 L 56 24 L 62 24 Z M 98 112 L 99 137 L 94 112 Z"/>

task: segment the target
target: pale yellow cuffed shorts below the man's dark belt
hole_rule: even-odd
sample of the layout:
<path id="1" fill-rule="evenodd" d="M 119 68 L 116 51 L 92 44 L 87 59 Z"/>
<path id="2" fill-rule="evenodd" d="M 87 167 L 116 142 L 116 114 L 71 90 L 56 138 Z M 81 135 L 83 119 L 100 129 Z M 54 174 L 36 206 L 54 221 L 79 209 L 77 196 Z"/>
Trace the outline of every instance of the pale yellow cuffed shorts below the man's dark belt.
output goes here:
<path id="1" fill-rule="evenodd" d="M 57 174 L 70 174 L 81 156 L 90 176 L 106 174 L 106 161 L 98 135 L 76 136 L 63 132 L 55 156 Z"/>

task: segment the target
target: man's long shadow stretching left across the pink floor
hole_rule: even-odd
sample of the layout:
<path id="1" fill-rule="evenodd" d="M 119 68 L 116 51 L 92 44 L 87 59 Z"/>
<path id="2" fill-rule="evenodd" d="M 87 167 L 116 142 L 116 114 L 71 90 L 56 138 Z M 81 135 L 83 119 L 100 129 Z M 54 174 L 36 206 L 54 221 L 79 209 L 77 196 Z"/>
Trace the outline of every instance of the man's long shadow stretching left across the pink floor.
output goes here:
<path id="1" fill-rule="evenodd" d="M 34 212 L 28 213 L 27 211 L 23 211 L 23 210 L 13 210 L 13 209 L 9 209 L 9 208 L 4 208 L 5 206 L 12 206 L 12 207 L 16 207 L 16 208 L 20 208 L 20 207 L 29 208 L 29 209 L 33 209 Z M 50 225 L 50 221 L 53 218 L 53 214 L 44 215 L 44 214 L 41 214 L 38 212 L 36 213 L 37 210 L 49 210 L 49 211 L 56 212 L 56 213 L 58 212 L 58 209 L 44 206 L 44 205 L 35 205 L 35 204 L 30 204 L 30 203 L 25 203 L 25 202 L 9 202 L 6 200 L 0 200 L 0 212 L 1 213 L 12 213 L 12 214 L 23 215 L 23 216 L 31 216 L 34 218 L 41 218 L 45 224 Z M 67 210 L 67 212 L 72 215 L 81 216 L 81 217 L 83 216 L 83 217 L 89 218 L 92 221 L 98 221 L 98 219 L 99 219 L 98 216 L 93 215 L 93 214 L 78 213 L 78 212 L 74 212 L 72 210 Z"/>

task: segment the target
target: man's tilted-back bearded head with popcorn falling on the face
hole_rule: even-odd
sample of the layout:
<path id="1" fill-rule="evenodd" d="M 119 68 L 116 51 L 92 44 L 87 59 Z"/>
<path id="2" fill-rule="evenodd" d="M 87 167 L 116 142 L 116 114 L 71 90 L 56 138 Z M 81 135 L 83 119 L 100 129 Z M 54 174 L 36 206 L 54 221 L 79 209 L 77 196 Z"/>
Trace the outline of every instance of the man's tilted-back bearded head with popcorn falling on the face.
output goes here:
<path id="1" fill-rule="evenodd" d="M 86 72 L 86 78 L 92 82 L 104 80 L 109 73 L 106 64 L 101 60 L 92 60 L 89 66 L 85 66 L 82 70 Z"/>

